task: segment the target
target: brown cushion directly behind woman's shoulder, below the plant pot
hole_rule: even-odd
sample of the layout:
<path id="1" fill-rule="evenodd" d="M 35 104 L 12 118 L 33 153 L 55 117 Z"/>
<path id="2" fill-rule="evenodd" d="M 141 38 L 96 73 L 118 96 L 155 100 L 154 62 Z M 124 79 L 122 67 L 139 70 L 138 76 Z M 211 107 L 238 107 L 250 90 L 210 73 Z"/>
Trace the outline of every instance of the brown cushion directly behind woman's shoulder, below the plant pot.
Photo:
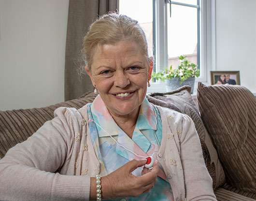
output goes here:
<path id="1" fill-rule="evenodd" d="M 225 174 L 218 159 L 218 154 L 213 146 L 212 139 L 204 127 L 195 102 L 190 95 L 190 90 L 190 87 L 185 86 L 168 93 L 150 94 L 147 98 L 156 105 L 185 113 L 192 118 L 200 138 L 204 161 L 213 178 L 213 188 L 215 189 L 224 184 Z"/>

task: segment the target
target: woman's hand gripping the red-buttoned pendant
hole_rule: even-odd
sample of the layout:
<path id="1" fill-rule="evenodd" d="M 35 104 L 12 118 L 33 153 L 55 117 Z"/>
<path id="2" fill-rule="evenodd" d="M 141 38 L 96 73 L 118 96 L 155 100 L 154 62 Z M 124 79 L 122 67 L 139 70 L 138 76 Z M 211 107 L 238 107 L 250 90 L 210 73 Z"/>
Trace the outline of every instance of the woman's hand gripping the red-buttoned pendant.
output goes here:
<path id="1" fill-rule="evenodd" d="M 146 159 L 132 160 L 108 176 L 102 177 L 102 200 L 138 197 L 142 193 L 150 191 L 156 183 L 159 170 L 157 161 L 153 164 L 151 170 L 144 167 L 142 176 L 134 176 L 131 174 L 133 170 L 143 166 L 146 162 Z"/>

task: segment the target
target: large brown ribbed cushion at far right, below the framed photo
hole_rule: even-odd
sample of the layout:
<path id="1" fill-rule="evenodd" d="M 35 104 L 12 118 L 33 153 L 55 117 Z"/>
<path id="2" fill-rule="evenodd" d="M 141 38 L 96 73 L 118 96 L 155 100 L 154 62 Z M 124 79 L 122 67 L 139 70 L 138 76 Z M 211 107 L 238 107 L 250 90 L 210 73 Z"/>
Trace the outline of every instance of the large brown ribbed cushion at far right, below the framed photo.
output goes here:
<path id="1" fill-rule="evenodd" d="M 256 98 L 242 86 L 199 83 L 198 103 L 227 183 L 256 193 Z"/>

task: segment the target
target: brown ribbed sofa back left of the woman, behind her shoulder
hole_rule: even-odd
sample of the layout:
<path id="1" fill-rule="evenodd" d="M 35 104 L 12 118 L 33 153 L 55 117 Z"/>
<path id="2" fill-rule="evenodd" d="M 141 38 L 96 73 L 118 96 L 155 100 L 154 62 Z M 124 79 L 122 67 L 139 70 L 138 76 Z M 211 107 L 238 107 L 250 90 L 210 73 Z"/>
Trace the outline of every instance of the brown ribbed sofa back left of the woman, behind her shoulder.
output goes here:
<path id="1" fill-rule="evenodd" d="M 97 94 L 87 92 L 75 100 L 57 103 L 43 108 L 0 111 L 0 158 L 15 144 L 23 142 L 36 132 L 44 122 L 54 117 L 58 107 L 81 108 L 92 102 Z"/>

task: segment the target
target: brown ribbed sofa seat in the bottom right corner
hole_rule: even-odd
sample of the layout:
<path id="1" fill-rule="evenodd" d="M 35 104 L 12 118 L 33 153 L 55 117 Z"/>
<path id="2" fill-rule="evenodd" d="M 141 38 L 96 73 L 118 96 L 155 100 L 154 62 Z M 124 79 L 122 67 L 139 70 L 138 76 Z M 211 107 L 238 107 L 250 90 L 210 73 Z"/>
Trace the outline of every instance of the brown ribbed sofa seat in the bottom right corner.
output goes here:
<path id="1" fill-rule="evenodd" d="M 218 188 L 215 191 L 217 201 L 256 201 L 252 198 L 247 198 L 240 194 L 228 191 L 224 188 Z"/>

